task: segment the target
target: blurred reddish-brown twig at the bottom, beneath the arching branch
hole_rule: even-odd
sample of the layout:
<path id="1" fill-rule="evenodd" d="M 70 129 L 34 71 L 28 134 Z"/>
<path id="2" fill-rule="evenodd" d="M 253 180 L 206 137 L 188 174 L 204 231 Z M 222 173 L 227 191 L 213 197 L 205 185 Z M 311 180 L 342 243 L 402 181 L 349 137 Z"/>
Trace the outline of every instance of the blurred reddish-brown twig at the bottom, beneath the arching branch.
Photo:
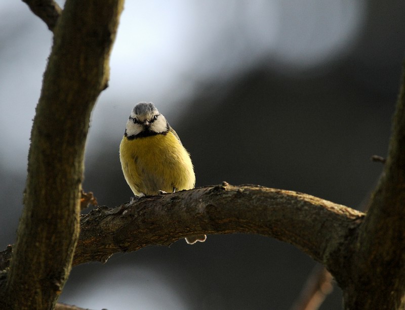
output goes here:
<path id="1" fill-rule="evenodd" d="M 333 277 L 325 267 L 318 265 L 311 272 L 301 295 L 291 310 L 316 310 L 333 291 Z"/>

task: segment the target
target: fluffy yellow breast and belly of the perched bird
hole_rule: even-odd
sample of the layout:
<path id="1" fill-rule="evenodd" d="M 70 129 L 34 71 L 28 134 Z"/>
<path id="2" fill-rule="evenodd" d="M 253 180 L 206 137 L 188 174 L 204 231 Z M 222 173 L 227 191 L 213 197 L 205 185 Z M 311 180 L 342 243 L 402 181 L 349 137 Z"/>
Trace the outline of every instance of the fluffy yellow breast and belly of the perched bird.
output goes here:
<path id="1" fill-rule="evenodd" d="M 135 195 L 156 195 L 194 188 L 190 154 L 171 131 L 134 140 L 123 137 L 119 158 L 125 180 Z"/>

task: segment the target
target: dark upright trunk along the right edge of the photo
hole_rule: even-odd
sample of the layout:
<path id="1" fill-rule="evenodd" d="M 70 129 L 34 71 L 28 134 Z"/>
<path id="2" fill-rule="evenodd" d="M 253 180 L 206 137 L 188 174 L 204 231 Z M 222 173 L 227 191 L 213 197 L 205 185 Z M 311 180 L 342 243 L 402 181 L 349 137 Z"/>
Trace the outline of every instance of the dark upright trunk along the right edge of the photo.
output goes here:
<path id="1" fill-rule="evenodd" d="M 384 171 L 353 250 L 348 252 L 348 261 L 353 263 L 337 279 L 343 288 L 346 308 L 405 308 L 404 223 L 405 63 Z"/>

